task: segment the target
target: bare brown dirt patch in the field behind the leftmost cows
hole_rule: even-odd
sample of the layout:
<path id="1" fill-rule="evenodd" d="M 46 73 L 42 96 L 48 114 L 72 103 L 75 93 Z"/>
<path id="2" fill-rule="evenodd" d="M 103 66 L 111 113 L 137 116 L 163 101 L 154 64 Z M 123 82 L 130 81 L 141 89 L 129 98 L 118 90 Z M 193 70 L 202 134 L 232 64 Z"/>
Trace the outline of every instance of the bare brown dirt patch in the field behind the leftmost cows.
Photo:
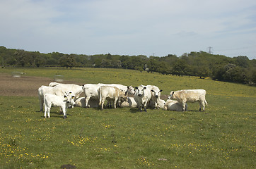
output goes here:
<path id="1" fill-rule="evenodd" d="M 0 96 L 38 96 L 38 88 L 53 82 L 47 77 L 12 77 L 12 75 L 0 73 Z M 75 82 L 64 82 L 74 83 Z"/>

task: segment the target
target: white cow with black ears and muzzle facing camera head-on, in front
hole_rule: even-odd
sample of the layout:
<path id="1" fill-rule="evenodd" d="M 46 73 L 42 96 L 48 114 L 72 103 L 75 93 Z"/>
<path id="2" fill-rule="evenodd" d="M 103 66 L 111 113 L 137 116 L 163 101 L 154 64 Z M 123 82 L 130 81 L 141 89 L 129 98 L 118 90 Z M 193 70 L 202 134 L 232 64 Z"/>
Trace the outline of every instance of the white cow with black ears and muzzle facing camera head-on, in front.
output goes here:
<path id="1" fill-rule="evenodd" d="M 139 111 L 146 111 L 146 106 L 151 99 L 151 91 L 144 85 L 139 85 L 139 87 L 135 87 L 134 99 L 138 105 Z"/>

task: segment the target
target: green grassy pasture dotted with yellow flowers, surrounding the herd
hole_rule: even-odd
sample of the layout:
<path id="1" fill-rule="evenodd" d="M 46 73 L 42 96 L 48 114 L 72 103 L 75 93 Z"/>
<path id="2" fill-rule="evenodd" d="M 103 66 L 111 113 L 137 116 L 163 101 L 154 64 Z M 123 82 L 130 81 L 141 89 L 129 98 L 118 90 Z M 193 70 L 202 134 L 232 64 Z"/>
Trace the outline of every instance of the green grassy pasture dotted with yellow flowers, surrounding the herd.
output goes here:
<path id="1" fill-rule="evenodd" d="M 12 72 L 23 72 L 21 78 Z M 205 89 L 206 111 L 136 108 L 59 108 L 43 118 L 37 88 L 64 82 L 153 84 L 172 90 Z M 2 79 L 2 80 L 1 80 Z M 12 82 L 13 81 L 13 82 Z M 256 88 L 199 77 L 101 68 L 0 70 L 0 168 L 255 168 Z M 6 82 L 4 84 L 4 82 Z M 25 83 L 27 82 L 27 83 Z M 19 86 L 20 85 L 20 86 Z"/>

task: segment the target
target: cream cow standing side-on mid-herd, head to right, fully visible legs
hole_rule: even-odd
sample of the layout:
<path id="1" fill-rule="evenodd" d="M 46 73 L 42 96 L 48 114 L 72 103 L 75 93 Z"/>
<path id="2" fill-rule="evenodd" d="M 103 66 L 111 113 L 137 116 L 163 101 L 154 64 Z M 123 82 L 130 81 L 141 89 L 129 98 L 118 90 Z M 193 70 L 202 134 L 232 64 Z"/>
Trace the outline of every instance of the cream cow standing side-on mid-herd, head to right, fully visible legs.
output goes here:
<path id="1" fill-rule="evenodd" d="M 105 100 L 107 101 L 112 101 L 114 104 L 114 108 L 117 108 L 117 100 L 120 98 L 123 98 L 124 100 L 127 99 L 127 92 L 119 89 L 117 87 L 112 87 L 112 86 L 101 86 L 98 89 L 98 95 L 100 99 L 100 106 L 101 110 L 104 108 L 104 102 Z"/>

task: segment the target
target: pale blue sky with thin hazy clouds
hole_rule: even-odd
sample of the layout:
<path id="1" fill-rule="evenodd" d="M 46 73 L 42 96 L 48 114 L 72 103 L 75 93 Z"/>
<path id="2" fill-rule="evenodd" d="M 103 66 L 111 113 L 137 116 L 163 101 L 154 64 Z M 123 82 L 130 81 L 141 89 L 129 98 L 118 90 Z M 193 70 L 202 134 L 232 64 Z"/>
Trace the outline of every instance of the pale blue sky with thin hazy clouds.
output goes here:
<path id="1" fill-rule="evenodd" d="M 0 23 L 8 49 L 256 59 L 255 0 L 0 0 Z"/>

